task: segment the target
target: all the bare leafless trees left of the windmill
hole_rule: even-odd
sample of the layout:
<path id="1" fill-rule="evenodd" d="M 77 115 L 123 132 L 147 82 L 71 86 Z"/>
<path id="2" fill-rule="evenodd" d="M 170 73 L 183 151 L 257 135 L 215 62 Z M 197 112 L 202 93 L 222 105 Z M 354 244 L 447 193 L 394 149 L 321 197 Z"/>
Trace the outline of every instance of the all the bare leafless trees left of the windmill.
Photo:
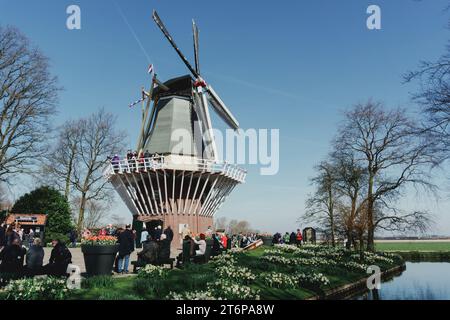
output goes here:
<path id="1" fill-rule="evenodd" d="M 123 152 L 126 135 L 104 109 L 54 130 L 60 90 L 40 50 L 17 29 L 0 27 L 0 183 L 32 174 L 64 194 L 82 229 L 111 204 L 102 169 L 108 156 Z"/>

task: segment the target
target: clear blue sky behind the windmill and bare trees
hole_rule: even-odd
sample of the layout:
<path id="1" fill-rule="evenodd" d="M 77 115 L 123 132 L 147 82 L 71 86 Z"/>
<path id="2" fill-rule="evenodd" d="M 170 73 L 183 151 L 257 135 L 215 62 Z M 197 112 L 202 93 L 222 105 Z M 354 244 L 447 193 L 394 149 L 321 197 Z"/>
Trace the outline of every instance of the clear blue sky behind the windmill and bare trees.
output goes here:
<path id="1" fill-rule="evenodd" d="M 66 28 L 70 4 L 81 7 L 81 30 Z M 366 28 L 370 4 L 381 7 L 382 30 Z M 448 4 L 0 0 L 0 24 L 17 26 L 51 59 L 64 87 L 55 124 L 104 106 L 118 115 L 134 146 L 139 108 L 127 105 L 148 85 L 149 62 L 162 79 L 187 73 L 151 20 L 151 10 L 158 10 L 191 60 L 194 18 L 204 76 L 242 127 L 280 129 L 279 174 L 260 176 L 258 167 L 248 167 L 247 183 L 235 189 L 218 215 L 273 232 L 297 227 L 311 191 L 308 178 L 328 152 L 342 110 L 370 97 L 415 108 L 409 98 L 414 86 L 403 85 L 401 75 L 444 52 L 450 39 Z M 402 206 L 429 208 L 438 217 L 435 231 L 450 234 L 450 188 L 448 181 L 436 183 L 443 190 L 439 201 L 411 192 Z M 17 187 L 16 196 L 31 187 Z M 118 203 L 114 212 L 131 218 Z"/>

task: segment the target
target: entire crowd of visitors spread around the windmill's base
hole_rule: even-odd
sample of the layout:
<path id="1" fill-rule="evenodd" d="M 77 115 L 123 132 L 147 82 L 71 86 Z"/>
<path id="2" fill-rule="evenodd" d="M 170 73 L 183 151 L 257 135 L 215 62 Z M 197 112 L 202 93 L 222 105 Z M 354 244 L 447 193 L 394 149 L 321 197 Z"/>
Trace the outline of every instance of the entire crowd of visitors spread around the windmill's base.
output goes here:
<path id="1" fill-rule="evenodd" d="M 142 251 L 137 253 L 137 264 L 161 264 L 168 261 L 171 256 L 171 243 L 174 239 L 174 232 L 170 226 L 164 230 L 161 225 L 151 228 L 143 228 L 140 238 L 137 239 L 137 232 L 128 224 L 124 228 L 116 228 L 112 224 L 106 227 L 91 231 L 84 229 L 81 234 L 82 239 L 88 239 L 92 235 L 112 236 L 116 238 L 119 250 L 116 256 L 114 270 L 119 274 L 129 272 L 130 256 L 135 251 L 136 244 L 142 245 Z M 292 233 L 294 234 L 294 233 Z M 274 235 L 274 243 L 298 244 L 299 233 L 293 235 L 286 233 L 285 236 L 277 233 Z M 260 237 L 256 233 L 239 233 L 228 235 L 224 231 L 213 231 L 212 227 L 194 235 L 184 226 L 181 231 L 181 253 L 178 255 L 177 265 L 180 266 L 196 258 L 204 257 L 207 253 L 207 240 L 211 239 L 208 256 L 219 255 L 221 252 L 231 248 L 245 248 L 257 241 Z M 68 234 L 72 247 L 77 245 L 79 239 L 75 230 Z M 301 233 L 300 233 L 301 237 Z M 138 240 L 138 241 L 137 241 Z M 300 238 L 301 242 L 301 238 Z M 44 264 L 45 252 L 41 238 L 33 229 L 28 232 L 19 224 L 0 226 L 0 273 L 11 273 L 17 276 L 53 275 L 65 276 L 67 267 L 72 263 L 72 254 L 61 239 L 52 239 L 52 251 L 47 264 Z"/>

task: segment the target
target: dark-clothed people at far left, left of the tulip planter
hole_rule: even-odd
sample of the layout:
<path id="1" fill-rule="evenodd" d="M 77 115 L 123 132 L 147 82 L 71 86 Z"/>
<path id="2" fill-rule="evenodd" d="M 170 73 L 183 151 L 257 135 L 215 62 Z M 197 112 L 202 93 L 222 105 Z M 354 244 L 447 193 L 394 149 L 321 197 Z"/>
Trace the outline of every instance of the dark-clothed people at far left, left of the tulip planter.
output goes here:
<path id="1" fill-rule="evenodd" d="M 52 251 L 44 265 L 45 252 L 33 229 L 25 233 L 19 224 L 0 225 L 0 273 L 16 277 L 66 274 L 72 254 L 60 239 L 52 239 Z"/>

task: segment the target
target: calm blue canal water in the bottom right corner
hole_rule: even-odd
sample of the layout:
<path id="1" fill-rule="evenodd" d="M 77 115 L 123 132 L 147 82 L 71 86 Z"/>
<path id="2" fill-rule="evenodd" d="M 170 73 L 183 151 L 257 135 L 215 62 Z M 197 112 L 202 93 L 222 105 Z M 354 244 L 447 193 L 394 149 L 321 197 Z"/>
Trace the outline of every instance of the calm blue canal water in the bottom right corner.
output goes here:
<path id="1" fill-rule="evenodd" d="M 369 291 L 353 299 L 450 300 L 450 263 L 406 262 L 406 270 L 383 282 L 378 292 Z"/>

